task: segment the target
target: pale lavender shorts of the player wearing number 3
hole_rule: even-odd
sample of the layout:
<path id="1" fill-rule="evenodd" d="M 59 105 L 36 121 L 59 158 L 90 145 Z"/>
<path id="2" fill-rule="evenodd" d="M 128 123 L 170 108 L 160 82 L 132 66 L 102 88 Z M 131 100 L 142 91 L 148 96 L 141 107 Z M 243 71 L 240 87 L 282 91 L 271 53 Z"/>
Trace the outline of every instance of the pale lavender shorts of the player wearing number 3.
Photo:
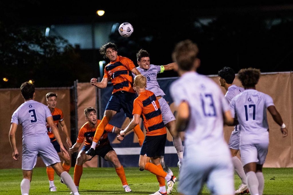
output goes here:
<path id="1" fill-rule="evenodd" d="M 60 163 L 60 158 L 51 142 L 30 142 L 22 145 L 22 170 L 32 170 L 40 156 L 46 166 Z"/>

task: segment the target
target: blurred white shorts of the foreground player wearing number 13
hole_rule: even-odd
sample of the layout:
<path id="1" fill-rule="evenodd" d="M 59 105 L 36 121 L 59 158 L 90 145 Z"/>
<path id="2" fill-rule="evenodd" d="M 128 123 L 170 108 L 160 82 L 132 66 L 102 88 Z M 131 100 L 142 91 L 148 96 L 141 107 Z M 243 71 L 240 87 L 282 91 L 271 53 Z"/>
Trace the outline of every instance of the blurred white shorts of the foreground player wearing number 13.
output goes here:
<path id="1" fill-rule="evenodd" d="M 228 148 L 227 148 L 228 151 Z M 225 155 L 195 155 L 197 159 L 186 159 L 180 168 L 178 192 L 199 194 L 206 183 L 211 194 L 234 193 L 234 170 L 230 153 Z M 206 157 L 205 157 L 206 156 Z"/>

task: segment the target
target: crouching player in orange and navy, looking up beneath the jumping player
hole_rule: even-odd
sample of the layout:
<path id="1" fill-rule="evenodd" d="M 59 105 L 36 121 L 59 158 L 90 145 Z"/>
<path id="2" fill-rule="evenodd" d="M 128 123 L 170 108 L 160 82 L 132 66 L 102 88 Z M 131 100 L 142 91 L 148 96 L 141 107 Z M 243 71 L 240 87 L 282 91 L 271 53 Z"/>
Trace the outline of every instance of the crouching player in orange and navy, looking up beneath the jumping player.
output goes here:
<path id="1" fill-rule="evenodd" d="M 98 124 L 101 122 L 100 120 L 97 120 L 95 108 L 88 107 L 84 109 L 84 115 L 86 116 L 87 122 L 79 130 L 76 143 L 69 149 L 69 152 L 71 154 L 76 152 L 81 146 L 81 144 L 84 142 L 84 139 L 86 139 L 84 146 L 82 147 L 81 151 L 79 151 L 79 154 L 76 159 L 76 164 L 74 167 L 73 179 L 77 189 L 79 189 L 79 181 L 82 175 L 82 165 L 86 161 L 90 161 L 93 158 L 92 156 L 86 155 L 86 151 L 91 147 L 93 136 L 96 132 L 96 128 Z M 114 127 L 110 124 L 106 125 L 103 135 L 98 141 L 98 145 L 96 146 L 94 156 L 98 155 L 104 158 L 106 161 L 110 161 L 114 165 L 117 175 L 120 177 L 125 192 L 130 192 L 132 190 L 130 189 L 126 181 L 123 166 L 120 164 L 117 154 L 110 145 L 108 139 L 108 133 L 119 134 L 120 131 L 121 129 L 118 127 Z"/>

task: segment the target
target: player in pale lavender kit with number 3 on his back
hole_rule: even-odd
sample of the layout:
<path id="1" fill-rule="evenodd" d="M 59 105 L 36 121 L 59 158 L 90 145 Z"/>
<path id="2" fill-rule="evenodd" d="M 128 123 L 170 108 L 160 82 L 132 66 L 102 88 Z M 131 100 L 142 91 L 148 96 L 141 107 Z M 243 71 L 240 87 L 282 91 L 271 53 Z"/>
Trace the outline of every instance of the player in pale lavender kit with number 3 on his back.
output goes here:
<path id="1" fill-rule="evenodd" d="M 54 171 L 62 178 L 64 184 L 69 187 L 73 194 L 79 195 L 72 178 L 63 170 L 59 156 L 47 135 L 46 120 L 60 145 L 61 151 L 69 157 L 69 154 L 62 144 L 58 129 L 53 122 L 49 108 L 42 103 L 34 101 L 35 86 L 33 84 L 25 82 L 21 84 L 20 89 L 21 95 L 24 98 L 24 103 L 21 104 L 12 115 L 9 141 L 13 151 L 12 157 L 18 161 L 20 156 L 16 147 L 15 133 L 17 125 L 21 124 L 23 129 L 23 180 L 21 182 L 21 194 L 29 194 L 33 168 L 36 165 L 37 157 L 40 156 L 46 166 L 52 166 Z"/>

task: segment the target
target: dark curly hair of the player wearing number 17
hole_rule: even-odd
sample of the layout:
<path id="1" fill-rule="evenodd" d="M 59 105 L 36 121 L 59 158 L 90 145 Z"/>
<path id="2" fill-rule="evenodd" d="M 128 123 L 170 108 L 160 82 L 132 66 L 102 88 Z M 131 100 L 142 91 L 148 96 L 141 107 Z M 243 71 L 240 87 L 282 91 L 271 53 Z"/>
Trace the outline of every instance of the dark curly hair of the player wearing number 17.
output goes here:
<path id="1" fill-rule="evenodd" d="M 238 72 L 238 78 L 244 88 L 255 87 L 260 77 L 260 69 L 243 68 Z"/>

